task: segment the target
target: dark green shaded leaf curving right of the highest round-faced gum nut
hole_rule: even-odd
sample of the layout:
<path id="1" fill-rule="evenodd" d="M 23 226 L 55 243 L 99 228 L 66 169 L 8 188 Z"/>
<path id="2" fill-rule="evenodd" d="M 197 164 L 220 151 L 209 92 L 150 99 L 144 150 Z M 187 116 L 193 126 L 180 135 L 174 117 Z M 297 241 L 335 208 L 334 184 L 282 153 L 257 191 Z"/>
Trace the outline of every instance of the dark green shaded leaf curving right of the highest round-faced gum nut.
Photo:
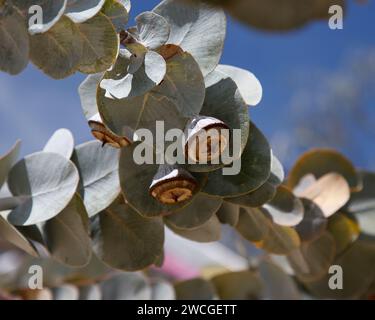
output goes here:
<path id="1" fill-rule="evenodd" d="M 271 149 L 265 136 L 250 124 L 250 138 L 237 164 L 241 171 L 237 175 L 223 175 L 221 170 L 208 174 L 204 193 L 213 196 L 235 197 L 247 194 L 262 186 L 270 176 Z"/>

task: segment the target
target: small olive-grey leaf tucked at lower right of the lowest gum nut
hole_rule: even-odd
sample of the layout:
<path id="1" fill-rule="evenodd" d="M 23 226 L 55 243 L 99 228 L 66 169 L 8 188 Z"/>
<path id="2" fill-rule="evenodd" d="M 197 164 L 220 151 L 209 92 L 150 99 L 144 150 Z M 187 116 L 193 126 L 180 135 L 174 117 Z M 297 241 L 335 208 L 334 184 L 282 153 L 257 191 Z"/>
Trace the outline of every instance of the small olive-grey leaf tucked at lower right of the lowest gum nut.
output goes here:
<path id="1" fill-rule="evenodd" d="M 164 219 L 178 229 L 195 229 L 205 224 L 219 210 L 223 200 L 208 197 L 199 193 L 181 210 L 178 210 Z"/>

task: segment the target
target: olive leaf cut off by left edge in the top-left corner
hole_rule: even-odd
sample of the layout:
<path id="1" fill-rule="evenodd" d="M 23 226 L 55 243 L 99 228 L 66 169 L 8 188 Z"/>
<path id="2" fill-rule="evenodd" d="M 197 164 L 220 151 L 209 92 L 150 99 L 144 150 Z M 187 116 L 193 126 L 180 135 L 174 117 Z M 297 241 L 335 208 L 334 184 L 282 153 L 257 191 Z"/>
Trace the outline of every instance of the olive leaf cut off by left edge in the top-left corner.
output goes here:
<path id="1" fill-rule="evenodd" d="M 29 63 L 29 36 L 22 15 L 14 8 L 4 6 L 4 10 L 0 13 L 0 70 L 16 75 Z"/>

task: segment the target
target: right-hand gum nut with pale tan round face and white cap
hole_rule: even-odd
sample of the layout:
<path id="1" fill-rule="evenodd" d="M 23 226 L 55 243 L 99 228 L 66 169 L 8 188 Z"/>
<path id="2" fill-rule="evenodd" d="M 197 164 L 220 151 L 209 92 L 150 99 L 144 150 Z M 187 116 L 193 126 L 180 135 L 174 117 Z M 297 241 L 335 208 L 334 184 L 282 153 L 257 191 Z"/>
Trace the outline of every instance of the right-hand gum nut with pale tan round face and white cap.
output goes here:
<path id="1" fill-rule="evenodd" d="M 185 157 L 194 163 L 208 163 L 220 158 L 229 145 L 229 127 L 221 120 L 199 116 L 193 118 L 185 130 Z"/>

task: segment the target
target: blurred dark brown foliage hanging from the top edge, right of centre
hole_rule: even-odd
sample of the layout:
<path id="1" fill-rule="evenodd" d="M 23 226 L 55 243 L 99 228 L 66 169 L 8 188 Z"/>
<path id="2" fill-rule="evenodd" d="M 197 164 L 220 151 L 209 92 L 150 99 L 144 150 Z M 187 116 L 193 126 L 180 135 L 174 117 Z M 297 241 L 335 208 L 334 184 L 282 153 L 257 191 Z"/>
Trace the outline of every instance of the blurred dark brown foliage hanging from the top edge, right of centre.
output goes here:
<path id="1" fill-rule="evenodd" d="M 345 7 L 345 0 L 191 0 L 221 6 L 233 17 L 266 31 L 289 31 L 315 20 L 329 19 L 333 5 Z"/>

